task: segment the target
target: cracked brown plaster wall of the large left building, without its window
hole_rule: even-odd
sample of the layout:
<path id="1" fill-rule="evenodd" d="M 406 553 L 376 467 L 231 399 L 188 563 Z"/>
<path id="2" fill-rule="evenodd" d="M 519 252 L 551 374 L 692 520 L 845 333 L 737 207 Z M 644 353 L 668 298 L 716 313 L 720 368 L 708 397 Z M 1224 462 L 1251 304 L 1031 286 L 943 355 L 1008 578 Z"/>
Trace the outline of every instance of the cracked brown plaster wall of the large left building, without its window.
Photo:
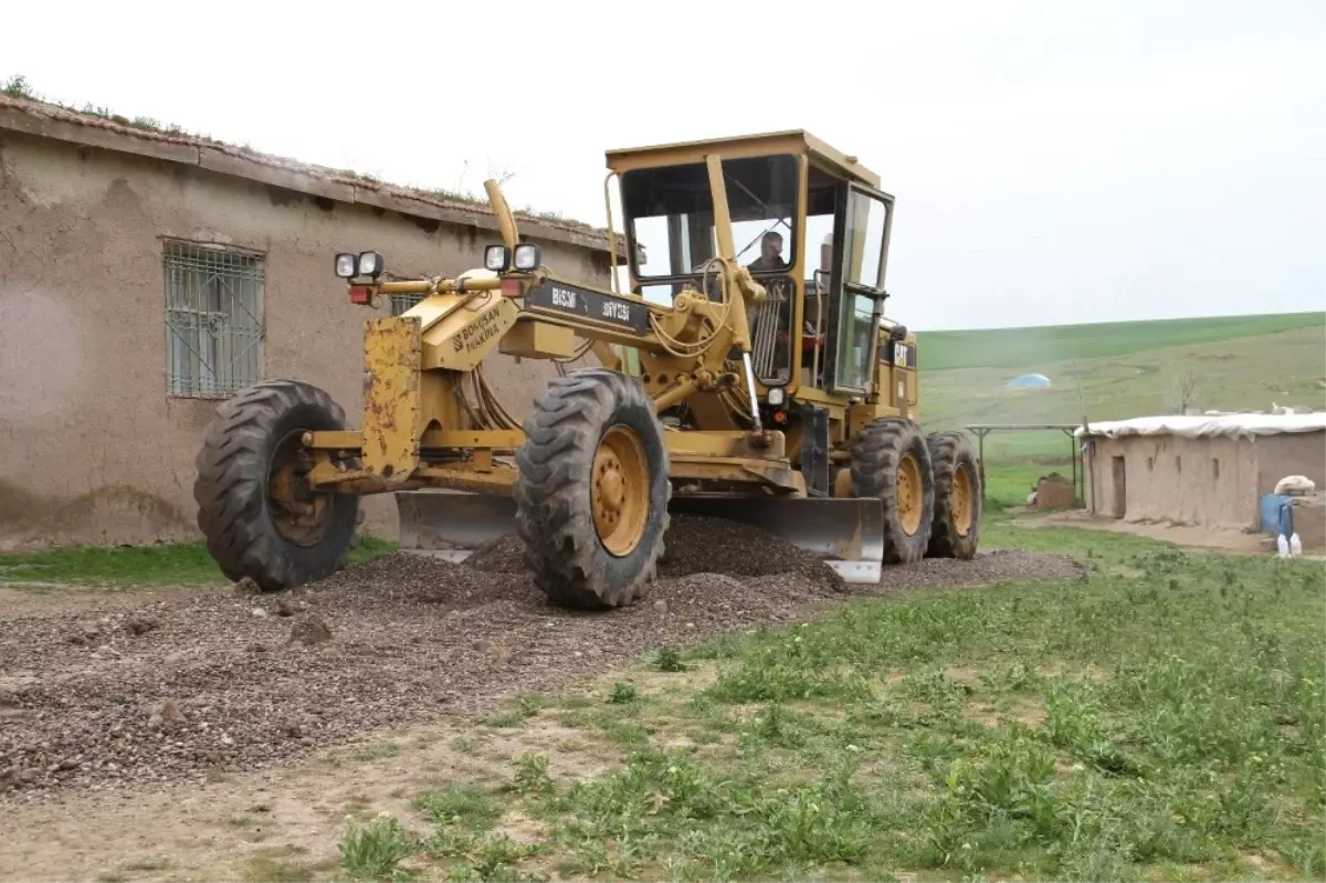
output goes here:
<path id="1" fill-rule="evenodd" d="M 497 240 L 198 166 L 0 131 L 0 549 L 198 536 L 194 456 L 217 402 L 167 395 L 162 237 L 264 253 L 263 375 L 324 387 L 351 423 L 374 312 L 347 302 L 333 255 L 373 248 L 398 274 L 452 274 L 477 266 Z M 561 276 L 607 284 L 606 251 L 541 245 Z M 487 371 L 517 415 L 553 377 L 550 365 L 501 355 Z M 366 512 L 371 529 L 394 534 L 390 500 L 370 500 Z"/>

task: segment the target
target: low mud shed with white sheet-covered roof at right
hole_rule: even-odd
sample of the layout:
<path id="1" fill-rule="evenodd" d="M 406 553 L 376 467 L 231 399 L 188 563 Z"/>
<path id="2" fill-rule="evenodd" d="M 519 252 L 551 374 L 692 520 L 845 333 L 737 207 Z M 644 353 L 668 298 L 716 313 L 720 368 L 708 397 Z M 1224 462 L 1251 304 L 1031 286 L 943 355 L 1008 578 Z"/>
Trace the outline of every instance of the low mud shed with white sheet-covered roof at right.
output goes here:
<path id="1" fill-rule="evenodd" d="M 1282 477 L 1326 488 L 1326 414 L 1135 418 L 1075 436 L 1087 505 L 1103 517 L 1256 530 L 1258 501 Z"/>

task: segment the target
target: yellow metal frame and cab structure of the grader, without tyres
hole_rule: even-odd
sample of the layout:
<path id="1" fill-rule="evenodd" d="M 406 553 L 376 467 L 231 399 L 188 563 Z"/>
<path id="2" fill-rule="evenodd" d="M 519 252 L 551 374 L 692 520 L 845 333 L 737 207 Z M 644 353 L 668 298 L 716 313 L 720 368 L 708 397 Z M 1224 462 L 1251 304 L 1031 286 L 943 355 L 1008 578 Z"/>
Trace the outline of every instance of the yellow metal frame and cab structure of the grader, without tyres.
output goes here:
<path id="1" fill-rule="evenodd" d="M 711 301 L 687 288 L 662 306 L 630 293 L 575 284 L 572 288 L 595 297 L 615 298 L 647 312 L 647 330 L 623 326 L 574 312 L 534 308 L 525 298 L 546 284 L 569 285 L 544 268 L 501 274 L 471 273 L 456 278 L 404 281 L 351 280 L 369 289 L 369 302 L 381 294 L 422 294 L 423 298 L 398 317 L 374 318 L 365 333 L 367 384 L 362 428 L 341 432 L 309 432 L 304 445 L 314 460 L 309 483 L 321 491 L 379 493 L 415 488 L 452 488 L 485 493 L 509 493 L 516 479 L 513 452 L 524 442 L 516 422 L 496 404 L 483 379 L 485 358 L 505 353 L 525 358 L 572 359 L 590 349 L 606 367 L 619 370 L 613 350 L 636 350 L 642 382 L 659 412 L 682 403 L 700 415 L 700 428 L 667 431 L 671 477 L 684 483 L 739 488 L 753 493 L 805 495 L 801 472 L 789 457 L 788 436 L 777 428 L 743 428 L 752 407 L 744 378 L 732 371 L 729 354 L 751 351 L 748 308 L 765 298 L 764 288 L 745 266 L 736 263 L 731 213 L 723 178 L 724 159 L 792 154 L 798 158 L 796 265 L 788 269 L 796 284 L 792 378 L 788 394 L 826 410 L 833 457 L 842 461 L 845 445 L 859 430 L 890 414 L 908 414 L 916 403 L 915 365 L 888 366 L 876 362 L 870 395 L 850 400 L 800 383 L 802 371 L 801 329 L 805 322 L 808 249 L 806 209 L 810 168 L 841 180 L 878 187 L 879 179 L 855 158 L 847 156 L 804 131 L 772 133 L 743 138 L 664 145 L 629 151 L 609 151 L 605 198 L 611 231 L 607 187 L 623 172 L 704 163 L 713 204 L 719 257 L 713 272 L 724 298 Z M 503 243 L 520 243 L 516 219 L 496 182 L 485 182 Z M 610 232 L 615 251 L 617 235 Z M 633 270 L 634 272 L 634 270 Z M 639 280 L 631 280 L 633 288 Z M 617 288 L 615 277 L 613 289 Z M 833 329 L 829 330 L 833 333 Z M 887 330 L 880 329 L 880 345 Z M 577 343 L 577 338 L 585 341 Z M 915 353 L 915 335 L 907 335 Z M 764 398 L 765 390 L 757 391 Z M 793 447 L 800 449 L 801 431 L 789 427 Z"/>

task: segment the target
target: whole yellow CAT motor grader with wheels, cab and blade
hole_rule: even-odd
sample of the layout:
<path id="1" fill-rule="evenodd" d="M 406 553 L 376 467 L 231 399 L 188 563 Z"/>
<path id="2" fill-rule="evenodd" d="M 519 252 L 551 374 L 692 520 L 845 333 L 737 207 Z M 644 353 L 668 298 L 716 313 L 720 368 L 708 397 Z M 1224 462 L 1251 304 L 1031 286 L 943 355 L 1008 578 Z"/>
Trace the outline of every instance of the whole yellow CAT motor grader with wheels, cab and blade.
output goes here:
<path id="1" fill-rule="evenodd" d="M 804 131 L 609 151 L 607 167 L 629 292 L 615 273 L 614 290 L 554 276 L 491 180 L 503 244 L 483 269 L 394 280 L 375 252 L 335 257 L 353 304 L 422 300 L 366 325 L 361 428 L 294 381 L 217 408 L 195 497 L 231 579 L 332 574 L 358 496 L 386 492 L 403 549 L 460 559 L 514 532 L 538 587 L 573 607 L 640 598 L 670 512 L 757 525 L 858 583 L 976 553 L 971 447 L 922 434 L 916 338 L 883 318 L 894 199 L 878 178 Z M 558 363 L 524 427 L 484 378 L 493 353 Z M 602 367 L 566 371 L 590 353 Z"/>

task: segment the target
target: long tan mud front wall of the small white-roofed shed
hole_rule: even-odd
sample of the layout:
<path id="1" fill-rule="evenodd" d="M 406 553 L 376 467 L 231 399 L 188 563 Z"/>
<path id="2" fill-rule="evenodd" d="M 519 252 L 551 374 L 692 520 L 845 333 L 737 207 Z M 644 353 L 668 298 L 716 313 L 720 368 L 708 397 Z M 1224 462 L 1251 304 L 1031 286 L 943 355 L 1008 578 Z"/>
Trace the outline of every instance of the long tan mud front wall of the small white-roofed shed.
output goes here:
<path id="1" fill-rule="evenodd" d="M 1091 439 L 1087 455 L 1091 512 L 1102 517 L 1114 512 L 1113 459 L 1122 456 L 1124 520 L 1254 528 L 1258 452 L 1250 440 L 1228 438 Z"/>

